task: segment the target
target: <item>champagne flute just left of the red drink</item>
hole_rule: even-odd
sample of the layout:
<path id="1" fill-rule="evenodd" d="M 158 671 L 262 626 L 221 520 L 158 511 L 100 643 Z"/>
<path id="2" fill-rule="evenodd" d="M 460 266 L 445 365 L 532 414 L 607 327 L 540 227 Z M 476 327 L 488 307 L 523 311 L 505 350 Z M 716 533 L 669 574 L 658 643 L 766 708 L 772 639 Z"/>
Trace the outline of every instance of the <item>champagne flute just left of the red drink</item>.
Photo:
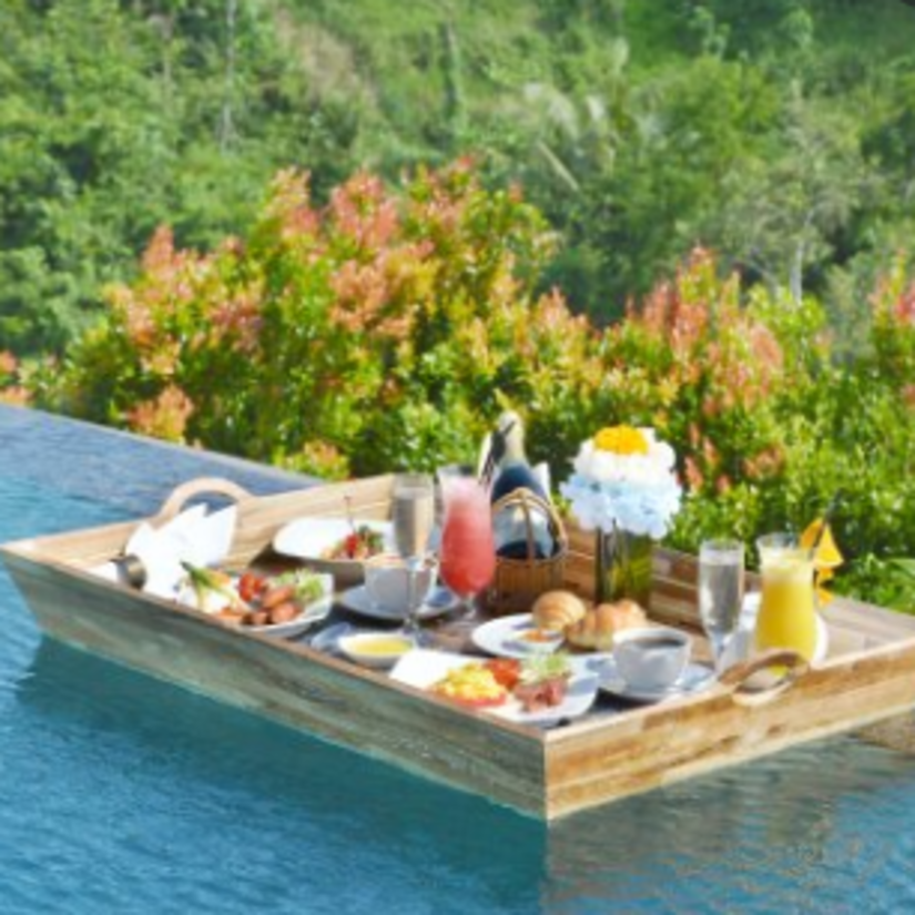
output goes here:
<path id="1" fill-rule="evenodd" d="M 435 525 L 435 487 L 426 474 L 398 474 L 394 478 L 394 542 L 407 566 L 407 607 L 404 631 L 423 643 L 416 577 L 427 560 Z"/>

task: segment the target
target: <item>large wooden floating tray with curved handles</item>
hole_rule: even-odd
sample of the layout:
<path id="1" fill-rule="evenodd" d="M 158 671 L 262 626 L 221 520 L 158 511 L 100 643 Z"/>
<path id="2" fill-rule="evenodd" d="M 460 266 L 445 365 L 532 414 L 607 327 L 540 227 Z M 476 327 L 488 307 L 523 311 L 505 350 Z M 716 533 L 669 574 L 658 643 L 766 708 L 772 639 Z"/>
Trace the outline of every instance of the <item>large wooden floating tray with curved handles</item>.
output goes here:
<path id="1" fill-rule="evenodd" d="M 303 516 L 389 515 L 392 477 L 255 498 L 225 480 L 185 484 L 152 523 L 195 495 L 238 502 L 227 559 L 271 555 L 276 531 Z M 54 638 L 294 728 L 553 819 L 898 714 L 915 704 L 915 619 L 836 599 L 823 611 L 830 654 L 782 688 L 752 693 L 741 677 L 689 698 L 606 709 L 549 731 L 457 706 L 384 673 L 225 624 L 98 578 L 138 522 L 7 543 L 0 550 Z M 566 583 L 588 598 L 592 537 L 570 532 Z M 697 567 L 658 550 L 652 619 L 698 630 Z"/>

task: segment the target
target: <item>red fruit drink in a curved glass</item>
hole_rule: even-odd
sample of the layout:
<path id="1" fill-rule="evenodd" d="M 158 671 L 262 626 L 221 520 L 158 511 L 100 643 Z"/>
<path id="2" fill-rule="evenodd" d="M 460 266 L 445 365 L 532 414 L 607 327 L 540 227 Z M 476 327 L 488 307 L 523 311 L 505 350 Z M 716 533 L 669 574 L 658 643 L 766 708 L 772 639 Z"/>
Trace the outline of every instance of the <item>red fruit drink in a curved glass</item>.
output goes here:
<path id="1" fill-rule="evenodd" d="M 440 575 L 457 594 L 478 593 L 496 573 L 496 545 L 489 494 L 475 480 L 449 479 L 445 486 L 445 528 Z"/>

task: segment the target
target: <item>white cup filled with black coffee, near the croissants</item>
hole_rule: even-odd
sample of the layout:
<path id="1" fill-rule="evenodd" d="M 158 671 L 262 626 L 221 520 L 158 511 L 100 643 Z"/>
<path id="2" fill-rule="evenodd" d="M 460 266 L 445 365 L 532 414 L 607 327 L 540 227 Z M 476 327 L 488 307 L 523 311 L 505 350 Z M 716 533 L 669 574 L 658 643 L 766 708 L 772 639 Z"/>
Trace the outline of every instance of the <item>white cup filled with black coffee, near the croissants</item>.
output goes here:
<path id="1" fill-rule="evenodd" d="M 667 626 L 627 629 L 613 639 L 613 660 L 620 677 L 633 690 L 670 689 L 685 672 L 692 639 Z"/>

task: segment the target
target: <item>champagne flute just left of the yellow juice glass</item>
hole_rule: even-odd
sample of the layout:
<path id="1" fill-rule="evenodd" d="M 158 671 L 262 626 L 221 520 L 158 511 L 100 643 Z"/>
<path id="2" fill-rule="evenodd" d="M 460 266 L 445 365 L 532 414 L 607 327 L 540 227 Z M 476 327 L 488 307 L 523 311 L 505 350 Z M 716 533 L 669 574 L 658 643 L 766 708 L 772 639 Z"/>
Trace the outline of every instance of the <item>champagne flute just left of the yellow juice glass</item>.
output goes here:
<path id="1" fill-rule="evenodd" d="M 743 607 L 743 543 L 704 540 L 699 548 L 699 616 L 709 637 L 715 670 L 740 621 Z"/>

